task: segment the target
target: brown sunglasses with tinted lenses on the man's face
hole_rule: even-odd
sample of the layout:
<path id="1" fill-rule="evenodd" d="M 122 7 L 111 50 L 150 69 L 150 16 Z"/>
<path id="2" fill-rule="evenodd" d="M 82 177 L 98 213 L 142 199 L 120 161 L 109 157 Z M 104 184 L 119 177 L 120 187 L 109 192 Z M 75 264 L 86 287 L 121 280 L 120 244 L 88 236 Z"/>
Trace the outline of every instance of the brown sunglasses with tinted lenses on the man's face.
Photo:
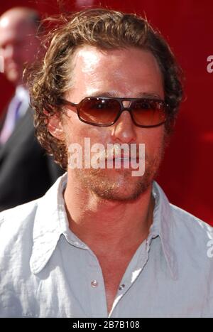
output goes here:
<path id="1" fill-rule="evenodd" d="M 124 111 L 129 111 L 136 126 L 144 128 L 164 124 L 169 114 L 168 104 L 150 98 L 85 97 L 79 104 L 67 100 L 60 102 L 75 107 L 80 121 L 99 127 L 111 126 Z M 123 102 L 129 102 L 129 107 L 124 107 Z"/>

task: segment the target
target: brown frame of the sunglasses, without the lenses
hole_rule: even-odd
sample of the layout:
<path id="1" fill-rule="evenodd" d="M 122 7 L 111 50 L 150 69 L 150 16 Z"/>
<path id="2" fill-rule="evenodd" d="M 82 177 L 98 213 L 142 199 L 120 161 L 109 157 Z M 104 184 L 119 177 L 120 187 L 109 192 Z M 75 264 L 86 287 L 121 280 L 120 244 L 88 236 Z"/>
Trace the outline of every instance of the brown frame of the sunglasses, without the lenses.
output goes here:
<path id="1" fill-rule="evenodd" d="M 119 110 L 119 112 L 116 116 L 116 119 L 114 119 L 114 122 L 111 122 L 110 124 L 97 124 L 97 123 L 94 123 L 94 122 L 86 121 L 86 120 L 84 120 L 80 117 L 80 107 L 81 107 L 82 103 L 85 100 L 92 100 L 92 99 L 94 99 L 94 100 L 99 100 L 99 99 L 100 100 L 116 100 L 116 102 L 119 102 L 120 110 Z M 132 102 L 135 102 L 135 101 L 138 101 L 138 100 L 142 100 L 143 102 L 160 102 L 160 104 L 162 104 L 164 109 L 165 109 L 165 116 L 166 116 L 165 121 L 160 122 L 159 124 L 153 124 L 153 125 L 150 125 L 150 126 L 146 126 L 146 125 L 143 125 L 143 124 L 137 124 L 135 119 L 133 118 L 131 104 L 132 104 Z M 123 102 L 130 102 L 129 107 L 124 107 Z M 128 111 L 130 113 L 133 124 L 135 124 L 137 127 L 141 127 L 141 128 L 159 127 L 159 126 L 161 126 L 162 124 L 165 124 L 165 122 L 168 121 L 168 115 L 169 115 L 168 111 L 170 109 L 169 105 L 166 104 L 164 102 L 164 100 L 155 99 L 155 98 L 151 99 L 151 98 L 124 98 L 124 97 L 84 97 L 84 99 L 81 100 L 78 104 L 75 104 L 74 102 L 69 102 L 68 100 L 64 100 L 64 99 L 61 99 L 60 103 L 62 105 L 65 105 L 65 106 L 75 107 L 77 109 L 77 116 L 78 116 L 78 118 L 80 119 L 81 122 L 84 122 L 86 124 L 91 124 L 92 126 L 97 126 L 97 127 L 110 127 L 110 126 L 112 126 L 113 124 L 116 123 L 116 121 L 121 116 L 121 113 L 124 112 L 124 111 Z"/>

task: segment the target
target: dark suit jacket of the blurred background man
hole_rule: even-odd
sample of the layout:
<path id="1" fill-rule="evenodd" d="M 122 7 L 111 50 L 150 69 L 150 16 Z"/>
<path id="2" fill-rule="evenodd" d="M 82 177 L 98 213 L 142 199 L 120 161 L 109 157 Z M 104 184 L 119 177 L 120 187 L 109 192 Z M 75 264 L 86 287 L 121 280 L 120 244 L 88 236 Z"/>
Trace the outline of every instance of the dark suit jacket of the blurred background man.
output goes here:
<path id="1" fill-rule="evenodd" d="M 35 138 L 29 108 L 0 145 L 0 211 L 43 196 L 62 173 Z"/>

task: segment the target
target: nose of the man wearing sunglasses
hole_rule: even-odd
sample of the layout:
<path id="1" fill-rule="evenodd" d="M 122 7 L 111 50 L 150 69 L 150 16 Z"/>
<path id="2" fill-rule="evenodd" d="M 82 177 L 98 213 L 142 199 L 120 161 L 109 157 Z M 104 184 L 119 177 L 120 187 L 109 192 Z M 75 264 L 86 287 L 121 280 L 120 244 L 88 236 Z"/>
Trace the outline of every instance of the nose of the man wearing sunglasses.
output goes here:
<path id="1" fill-rule="evenodd" d="M 136 141 L 136 126 L 133 124 L 129 111 L 121 113 L 119 119 L 113 125 L 111 136 L 119 143 L 133 143 Z"/>

